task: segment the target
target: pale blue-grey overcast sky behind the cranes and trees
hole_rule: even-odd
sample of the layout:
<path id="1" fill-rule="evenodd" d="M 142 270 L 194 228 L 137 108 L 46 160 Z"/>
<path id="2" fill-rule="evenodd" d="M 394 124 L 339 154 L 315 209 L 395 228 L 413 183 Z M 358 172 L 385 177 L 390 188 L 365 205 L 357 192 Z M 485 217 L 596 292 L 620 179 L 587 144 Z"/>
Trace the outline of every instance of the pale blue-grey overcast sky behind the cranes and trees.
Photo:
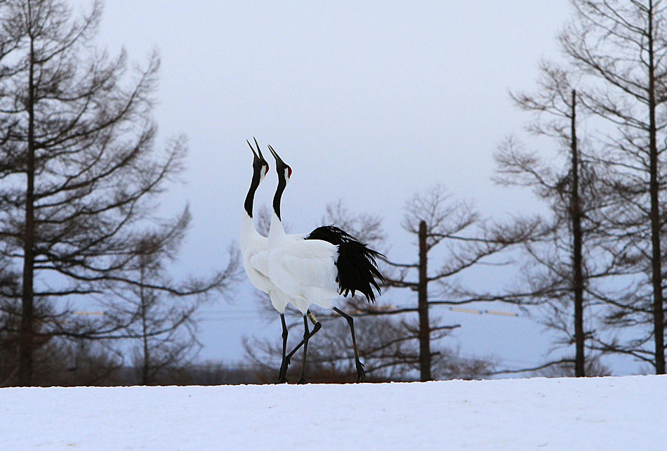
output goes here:
<path id="1" fill-rule="evenodd" d="M 113 0 L 98 41 L 139 64 L 159 50 L 160 140 L 185 133 L 190 148 L 187 184 L 164 207 L 190 202 L 181 263 L 201 273 L 223 265 L 237 240 L 253 136 L 293 169 L 282 209 L 291 231 L 319 225 L 340 198 L 383 217 L 395 260 L 414 259 L 400 254 L 411 239 L 404 202 L 435 183 L 484 216 L 538 208 L 530 192 L 489 177 L 498 143 L 529 120 L 508 90 L 531 91 L 539 60 L 560 58 L 555 35 L 568 15 L 567 0 Z M 256 205 L 272 197 L 273 169 Z M 279 323 L 253 313 L 248 285 L 238 289 L 247 301 L 208 308 L 242 320 L 203 323 L 202 358 L 240 358 L 241 336 L 262 329 L 279 339 Z M 550 347 L 530 320 L 442 315 L 463 325 L 449 344 L 464 355 L 532 365 Z"/>

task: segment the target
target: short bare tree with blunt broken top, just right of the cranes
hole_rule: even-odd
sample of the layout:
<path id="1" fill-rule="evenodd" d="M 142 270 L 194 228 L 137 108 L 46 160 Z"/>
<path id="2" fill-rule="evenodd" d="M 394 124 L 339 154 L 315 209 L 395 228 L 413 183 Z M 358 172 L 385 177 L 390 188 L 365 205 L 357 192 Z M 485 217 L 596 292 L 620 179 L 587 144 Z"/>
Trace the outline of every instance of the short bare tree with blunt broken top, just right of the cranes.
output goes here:
<path id="1" fill-rule="evenodd" d="M 502 265 L 507 261 L 489 262 L 513 244 L 527 239 L 536 229 L 531 221 L 511 225 L 492 224 L 480 219 L 473 207 L 465 202 L 451 200 L 451 196 L 440 185 L 417 193 L 405 207 L 403 228 L 417 238 L 418 259 L 414 263 L 399 263 L 387 259 L 385 279 L 390 287 L 407 288 L 417 292 L 414 307 L 374 308 L 357 303 L 356 308 L 368 315 L 402 315 L 418 313 L 416 324 L 403 322 L 407 339 L 418 341 L 419 373 L 421 381 L 433 379 L 432 368 L 447 367 L 447 353 L 433 352 L 432 343 L 449 335 L 458 325 L 442 325 L 430 318 L 430 309 L 438 305 L 456 305 L 475 301 L 507 300 L 501 294 L 478 294 L 465 289 L 457 279 L 465 270 L 484 263 Z M 428 265 L 428 254 L 438 244 L 447 255 L 442 258 L 440 268 L 432 270 Z M 440 249 L 440 248 L 438 248 Z M 429 287 L 437 287 L 429 293 Z M 435 292 L 435 293 L 434 293 Z M 435 294 L 435 296 L 434 296 Z M 435 299 L 434 299 L 435 297 Z M 440 299 L 439 299 L 440 298 Z M 451 354 L 451 353 L 450 353 Z M 432 360 L 433 358 L 436 360 Z M 484 364 L 487 370 L 494 366 Z"/>

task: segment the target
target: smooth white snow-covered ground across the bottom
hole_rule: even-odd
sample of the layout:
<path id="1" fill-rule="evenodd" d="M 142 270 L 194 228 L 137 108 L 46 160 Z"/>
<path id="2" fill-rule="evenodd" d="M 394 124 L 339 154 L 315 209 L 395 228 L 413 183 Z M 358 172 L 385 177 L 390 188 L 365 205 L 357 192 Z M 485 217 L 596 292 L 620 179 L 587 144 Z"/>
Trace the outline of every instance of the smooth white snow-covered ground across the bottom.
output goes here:
<path id="1" fill-rule="evenodd" d="M 0 388 L 0 450 L 665 450 L 667 377 Z"/>

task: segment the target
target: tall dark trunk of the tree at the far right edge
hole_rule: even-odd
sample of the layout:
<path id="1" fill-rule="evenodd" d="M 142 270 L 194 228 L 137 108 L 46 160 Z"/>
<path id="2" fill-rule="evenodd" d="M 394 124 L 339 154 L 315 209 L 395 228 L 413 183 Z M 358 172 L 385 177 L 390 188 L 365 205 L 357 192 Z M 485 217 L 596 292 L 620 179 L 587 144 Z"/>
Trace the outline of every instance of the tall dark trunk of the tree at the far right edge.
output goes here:
<path id="1" fill-rule="evenodd" d="M 660 254 L 660 204 L 658 179 L 658 149 L 656 143 L 656 98 L 655 98 L 655 62 L 653 42 L 653 2 L 649 2 L 648 12 L 648 57 L 649 57 L 649 162 L 651 196 L 651 244 L 652 244 L 652 284 L 653 284 L 653 327 L 655 338 L 656 374 L 665 374 L 665 341 L 662 294 L 662 263 Z"/>

